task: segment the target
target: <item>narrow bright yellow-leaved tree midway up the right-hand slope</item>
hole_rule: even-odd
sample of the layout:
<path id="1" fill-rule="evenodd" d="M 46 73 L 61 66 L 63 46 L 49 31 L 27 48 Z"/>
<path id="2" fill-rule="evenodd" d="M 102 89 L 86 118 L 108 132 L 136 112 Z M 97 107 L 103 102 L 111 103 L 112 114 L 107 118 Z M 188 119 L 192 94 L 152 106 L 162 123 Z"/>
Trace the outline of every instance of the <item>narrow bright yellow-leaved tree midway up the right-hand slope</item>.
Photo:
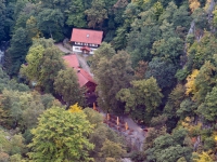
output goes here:
<path id="1" fill-rule="evenodd" d="M 187 83 L 186 83 L 186 95 L 188 96 L 190 93 L 191 94 L 195 94 L 196 93 L 196 87 L 195 87 L 195 78 L 196 76 L 199 75 L 199 70 L 197 69 L 194 69 L 192 71 L 191 75 L 189 75 L 187 77 Z"/>

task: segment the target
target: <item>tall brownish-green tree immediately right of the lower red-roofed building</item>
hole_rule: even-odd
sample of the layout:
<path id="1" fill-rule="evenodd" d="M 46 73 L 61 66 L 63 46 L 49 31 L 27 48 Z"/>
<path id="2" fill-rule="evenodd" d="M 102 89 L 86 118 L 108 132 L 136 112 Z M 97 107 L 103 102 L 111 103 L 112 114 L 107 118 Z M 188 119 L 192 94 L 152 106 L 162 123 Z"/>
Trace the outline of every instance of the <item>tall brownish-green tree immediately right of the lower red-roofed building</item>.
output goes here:
<path id="1" fill-rule="evenodd" d="M 106 111 L 124 112 L 124 105 L 115 98 L 116 93 L 127 89 L 132 80 L 131 62 L 126 51 L 119 51 L 111 59 L 102 57 L 93 70 L 98 81 L 99 105 Z"/>

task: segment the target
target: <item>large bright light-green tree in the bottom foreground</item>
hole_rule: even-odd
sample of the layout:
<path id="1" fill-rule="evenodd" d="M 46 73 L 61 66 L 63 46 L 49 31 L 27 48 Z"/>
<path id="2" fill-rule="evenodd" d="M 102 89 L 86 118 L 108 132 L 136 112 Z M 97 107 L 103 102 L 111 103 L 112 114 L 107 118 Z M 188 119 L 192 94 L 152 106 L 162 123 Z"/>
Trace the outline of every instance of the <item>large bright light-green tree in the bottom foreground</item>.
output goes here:
<path id="1" fill-rule="evenodd" d="M 44 111 L 36 129 L 31 130 L 33 143 L 28 145 L 34 161 L 90 161 L 88 151 L 93 149 L 88 136 L 92 125 L 82 111 L 71 113 L 59 107 Z"/>

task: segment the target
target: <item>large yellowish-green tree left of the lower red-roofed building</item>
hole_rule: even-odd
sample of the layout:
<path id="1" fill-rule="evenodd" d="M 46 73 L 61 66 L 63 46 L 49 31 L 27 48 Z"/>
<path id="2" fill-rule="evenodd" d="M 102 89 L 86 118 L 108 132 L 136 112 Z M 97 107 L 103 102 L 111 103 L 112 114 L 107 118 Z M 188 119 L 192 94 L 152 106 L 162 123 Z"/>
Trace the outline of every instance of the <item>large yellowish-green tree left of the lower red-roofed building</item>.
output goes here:
<path id="1" fill-rule="evenodd" d="M 43 42 L 44 41 L 44 42 Z M 23 65 L 21 73 L 29 81 L 36 81 L 42 91 L 54 93 L 54 78 L 65 68 L 61 51 L 51 40 L 35 41 L 26 56 L 27 66 Z"/>

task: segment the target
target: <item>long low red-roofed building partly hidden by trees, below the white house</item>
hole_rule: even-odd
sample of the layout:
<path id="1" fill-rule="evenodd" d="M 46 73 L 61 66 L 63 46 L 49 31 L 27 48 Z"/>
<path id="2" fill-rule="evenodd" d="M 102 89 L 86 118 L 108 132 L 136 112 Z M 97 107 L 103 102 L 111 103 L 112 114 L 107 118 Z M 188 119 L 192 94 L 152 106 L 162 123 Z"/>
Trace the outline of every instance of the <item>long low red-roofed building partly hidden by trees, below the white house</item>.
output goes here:
<path id="1" fill-rule="evenodd" d="M 80 87 L 87 87 L 87 93 L 93 93 L 95 91 L 97 83 L 86 70 L 80 68 L 76 54 L 63 56 L 65 64 L 69 68 L 74 68 L 78 78 Z"/>

